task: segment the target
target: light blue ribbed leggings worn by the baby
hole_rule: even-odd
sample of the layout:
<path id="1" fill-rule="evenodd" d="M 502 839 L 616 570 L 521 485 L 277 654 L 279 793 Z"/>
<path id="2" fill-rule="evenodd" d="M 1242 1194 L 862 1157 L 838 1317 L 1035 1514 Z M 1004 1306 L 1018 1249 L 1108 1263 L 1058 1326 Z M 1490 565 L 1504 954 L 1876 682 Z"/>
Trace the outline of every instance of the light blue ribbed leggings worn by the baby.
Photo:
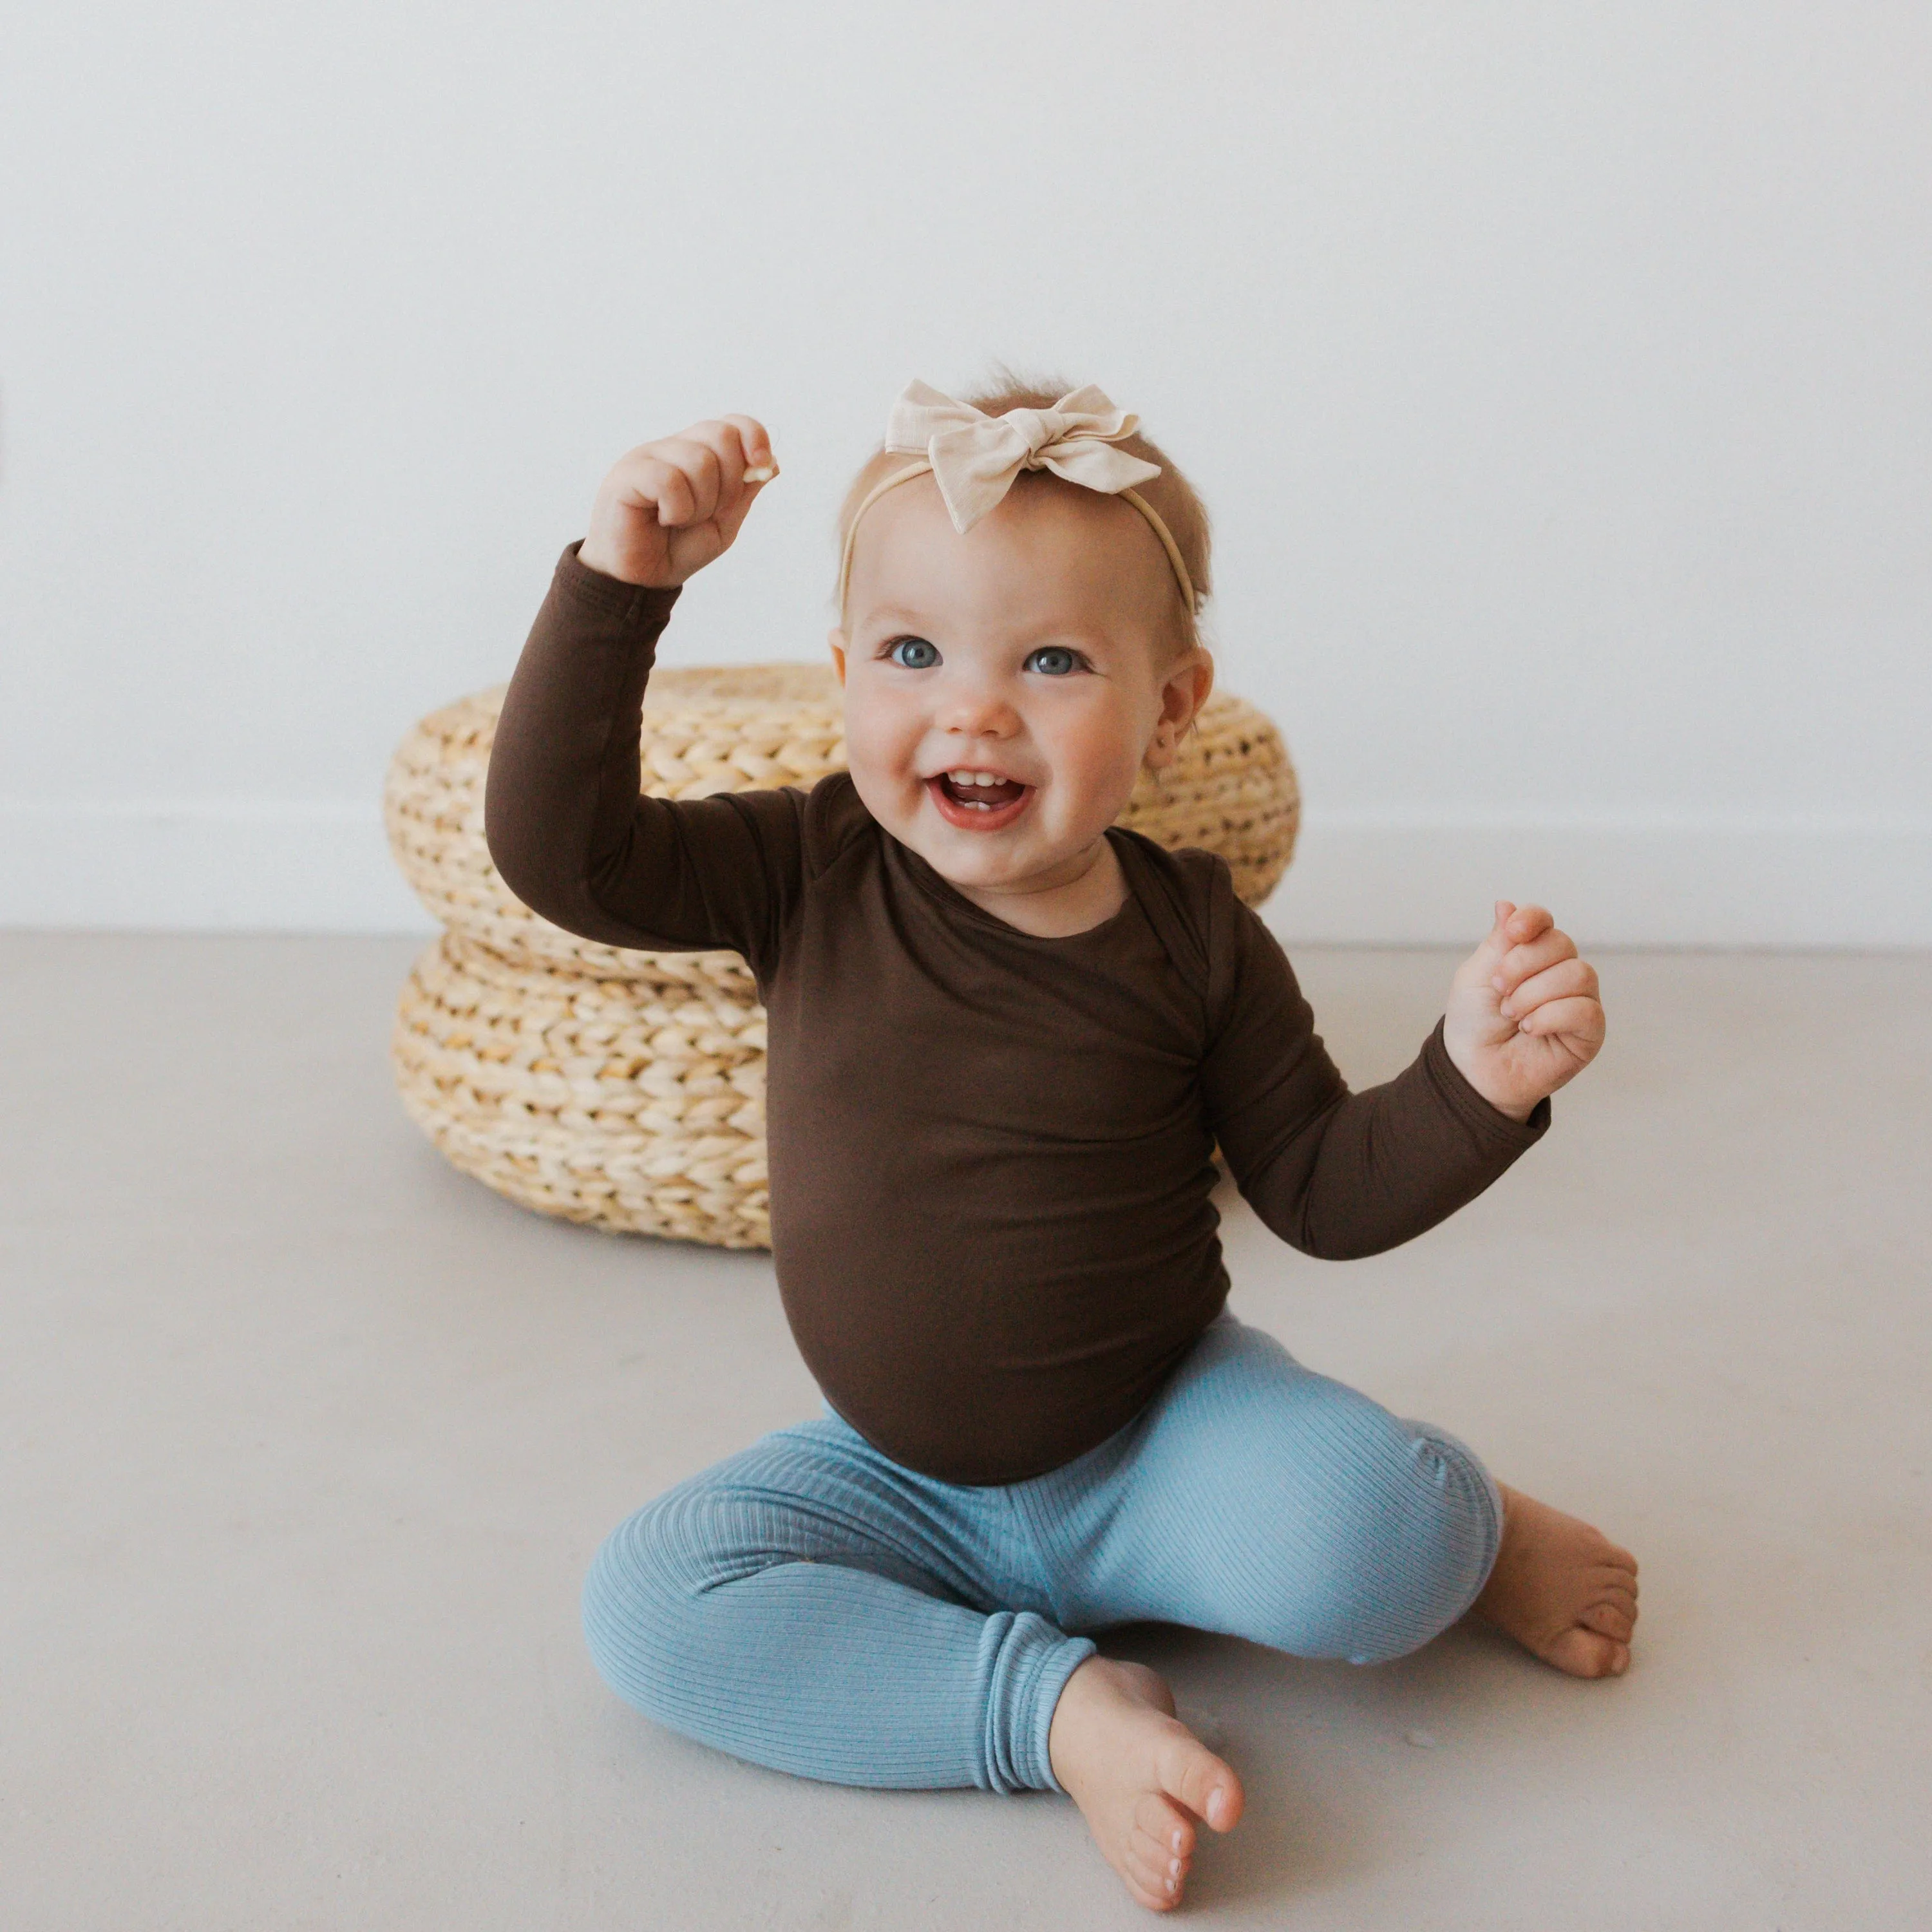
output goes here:
<path id="1" fill-rule="evenodd" d="M 844 1785 L 1049 1789 L 1086 1636 L 1159 1619 L 1374 1663 L 1476 1600 L 1501 1497 L 1223 1312 L 1159 1395 L 1045 1476 L 902 1468 L 827 1406 L 620 1524 L 583 1586 L 611 1687 L 705 1745 Z"/>

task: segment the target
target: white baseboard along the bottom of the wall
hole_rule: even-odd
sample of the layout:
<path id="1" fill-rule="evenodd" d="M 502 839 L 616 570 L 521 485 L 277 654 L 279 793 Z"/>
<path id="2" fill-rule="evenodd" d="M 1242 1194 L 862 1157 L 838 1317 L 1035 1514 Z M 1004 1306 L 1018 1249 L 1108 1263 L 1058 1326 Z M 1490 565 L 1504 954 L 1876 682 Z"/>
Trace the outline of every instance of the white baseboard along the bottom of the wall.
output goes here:
<path id="1" fill-rule="evenodd" d="M 1312 815 L 1285 941 L 1472 945 L 1499 895 L 1590 945 L 1932 947 L 1932 825 Z M 373 806 L 0 802 L 0 925 L 429 933 Z"/>

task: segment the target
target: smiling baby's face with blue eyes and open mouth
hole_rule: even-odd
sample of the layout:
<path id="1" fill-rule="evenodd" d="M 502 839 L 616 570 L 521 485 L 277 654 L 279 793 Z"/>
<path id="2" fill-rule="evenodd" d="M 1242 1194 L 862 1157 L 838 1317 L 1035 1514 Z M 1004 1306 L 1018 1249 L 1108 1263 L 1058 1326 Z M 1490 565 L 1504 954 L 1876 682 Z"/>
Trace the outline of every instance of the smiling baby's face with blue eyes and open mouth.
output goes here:
<path id="1" fill-rule="evenodd" d="M 1130 504 L 1022 475 L 962 537 L 929 475 L 887 491 L 831 639 L 866 810 L 970 896 L 1078 879 L 1208 696 L 1175 624 Z"/>

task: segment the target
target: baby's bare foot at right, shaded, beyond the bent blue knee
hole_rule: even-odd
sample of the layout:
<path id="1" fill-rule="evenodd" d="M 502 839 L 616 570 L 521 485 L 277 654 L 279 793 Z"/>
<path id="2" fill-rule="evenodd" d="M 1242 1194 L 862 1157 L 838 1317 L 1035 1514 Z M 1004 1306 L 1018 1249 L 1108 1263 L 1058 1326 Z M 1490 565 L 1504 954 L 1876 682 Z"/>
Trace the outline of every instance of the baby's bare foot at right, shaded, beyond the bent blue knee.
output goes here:
<path id="1" fill-rule="evenodd" d="M 1476 1615 L 1571 1677 L 1621 1677 L 1636 1627 L 1636 1557 L 1588 1522 L 1503 1490 L 1503 1548 Z"/>

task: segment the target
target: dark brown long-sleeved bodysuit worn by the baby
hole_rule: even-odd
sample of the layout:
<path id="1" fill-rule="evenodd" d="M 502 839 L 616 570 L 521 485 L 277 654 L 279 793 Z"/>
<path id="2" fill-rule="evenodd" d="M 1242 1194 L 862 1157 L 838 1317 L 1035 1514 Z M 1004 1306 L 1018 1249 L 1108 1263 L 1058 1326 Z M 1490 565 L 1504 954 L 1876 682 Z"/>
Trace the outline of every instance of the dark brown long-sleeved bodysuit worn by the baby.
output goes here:
<path id="1" fill-rule="evenodd" d="M 908 1468 L 1009 1484 L 1122 1428 L 1227 1298 L 1213 1148 L 1296 1248 L 1393 1248 L 1549 1122 L 1492 1107 L 1441 1026 L 1350 1094 L 1267 927 L 1208 852 L 1109 833 L 1128 900 L 1037 939 L 866 811 L 638 796 L 676 591 L 564 551 L 491 755 L 491 856 L 570 931 L 732 949 L 771 1012 L 771 1236 L 831 1405 Z"/>

